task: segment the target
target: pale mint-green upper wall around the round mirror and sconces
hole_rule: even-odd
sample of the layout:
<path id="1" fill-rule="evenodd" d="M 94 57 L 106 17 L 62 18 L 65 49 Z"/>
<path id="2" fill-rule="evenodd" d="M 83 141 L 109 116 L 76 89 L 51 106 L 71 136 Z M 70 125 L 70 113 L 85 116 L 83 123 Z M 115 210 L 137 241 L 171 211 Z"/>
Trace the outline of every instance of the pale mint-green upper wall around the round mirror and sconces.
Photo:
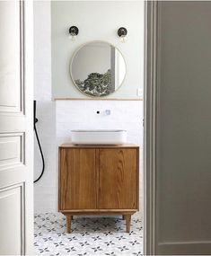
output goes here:
<path id="1" fill-rule="evenodd" d="M 90 99 L 76 89 L 69 66 L 75 50 L 92 40 L 114 45 L 127 64 L 123 84 L 106 98 L 140 98 L 136 90 L 144 82 L 144 1 L 52 1 L 51 21 L 53 98 Z M 79 28 L 75 41 L 68 39 L 71 25 Z M 119 41 L 122 26 L 127 28 L 127 43 Z"/>

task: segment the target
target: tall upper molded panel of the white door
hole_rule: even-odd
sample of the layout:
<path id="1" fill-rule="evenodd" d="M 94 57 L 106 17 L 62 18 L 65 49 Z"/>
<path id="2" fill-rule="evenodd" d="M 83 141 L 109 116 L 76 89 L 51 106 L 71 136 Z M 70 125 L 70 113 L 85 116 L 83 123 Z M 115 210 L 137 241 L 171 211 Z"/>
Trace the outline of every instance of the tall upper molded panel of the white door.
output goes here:
<path id="1" fill-rule="evenodd" d="M 15 6 L 13 6 L 15 4 Z M 0 61 L 0 84 L 2 89 L 0 91 L 0 114 L 24 114 L 24 1 L 11 1 L 11 3 L 6 2 L 2 4 L 2 12 L 6 13 L 6 11 L 10 11 L 13 15 L 8 15 L 7 18 L 7 26 L 14 30 L 13 26 L 16 26 L 17 34 L 13 35 L 12 33 L 8 33 L 8 27 L 2 26 L 1 30 L 6 30 L 4 32 L 4 37 L 6 34 L 9 35 L 8 39 L 4 39 L 4 45 L 2 46 L 1 54 L 5 56 L 2 57 L 2 61 Z M 1 11 L 0 11 L 1 12 Z M 15 21 L 10 22 L 12 16 L 15 17 Z M 4 18 L 5 20 L 5 15 Z M 5 21 L 4 21 L 5 23 Z M 11 39 L 10 37 L 13 36 Z M 15 41 L 15 36 L 18 37 Z M 8 42 L 6 42 L 8 40 Z M 11 44 L 11 41 L 14 41 L 15 44 L 18 44 L 18 47 L 15 45 L 15 48 L 7 48 L 8 45 Z M 17 49 L 16 49 L 17 48 Z M 14 49 L 16 52 L 14 53 Z M 9 54 L 8 54 L 9 50 Z M 9 56 L 15 58 L 15 61 L 10 61 Z M 14 60 L 14 59 L 13 59 Z M 15 62 L 15 65 L 11 63 Z M 14 75 L 15 73 L 16 75 Z M 16 84 L 15 90 L 13 89 L 13 83 Z"/>

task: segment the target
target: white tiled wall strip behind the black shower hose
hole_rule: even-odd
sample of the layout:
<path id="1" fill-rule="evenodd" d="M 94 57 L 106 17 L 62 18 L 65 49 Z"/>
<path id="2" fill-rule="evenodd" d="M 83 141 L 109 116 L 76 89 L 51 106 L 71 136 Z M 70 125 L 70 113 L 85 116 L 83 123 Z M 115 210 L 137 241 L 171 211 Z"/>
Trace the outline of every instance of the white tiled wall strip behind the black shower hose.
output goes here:
<path id="1" fill-rule="evenodd" d="M 51 102 L 50 2 L 34 2 L 34 99 L 37 100 L 37 130 L 46 168 L 41 180 L 34 184 L 35 212 L 55 212 L 56 176 L 56 109 Z M 34 137 L 34 179 L 42 169 L 40 151 Z"/>

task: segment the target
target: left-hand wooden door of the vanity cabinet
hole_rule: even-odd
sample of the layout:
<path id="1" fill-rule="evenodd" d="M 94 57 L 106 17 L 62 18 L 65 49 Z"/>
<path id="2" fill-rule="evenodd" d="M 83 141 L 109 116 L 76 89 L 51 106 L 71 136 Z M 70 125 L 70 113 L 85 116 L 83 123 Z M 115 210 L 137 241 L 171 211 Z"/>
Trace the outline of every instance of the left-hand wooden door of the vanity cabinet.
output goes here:
<path id="1" fill-rule="evenodd" d="M 96 209 L 95 149 L 61 148 L 59 209 Z"/>

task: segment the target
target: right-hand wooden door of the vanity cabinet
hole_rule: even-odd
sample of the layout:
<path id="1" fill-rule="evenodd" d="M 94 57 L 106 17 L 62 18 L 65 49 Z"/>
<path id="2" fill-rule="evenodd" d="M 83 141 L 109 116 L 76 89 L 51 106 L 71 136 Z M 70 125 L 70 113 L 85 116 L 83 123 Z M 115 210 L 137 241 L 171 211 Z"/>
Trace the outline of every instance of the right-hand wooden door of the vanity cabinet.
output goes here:
<path id="1" fill-rule="evenodd" d="M 138 164 L 136 148 L 100 149 L 101 209 L 136 209 Z"/>

